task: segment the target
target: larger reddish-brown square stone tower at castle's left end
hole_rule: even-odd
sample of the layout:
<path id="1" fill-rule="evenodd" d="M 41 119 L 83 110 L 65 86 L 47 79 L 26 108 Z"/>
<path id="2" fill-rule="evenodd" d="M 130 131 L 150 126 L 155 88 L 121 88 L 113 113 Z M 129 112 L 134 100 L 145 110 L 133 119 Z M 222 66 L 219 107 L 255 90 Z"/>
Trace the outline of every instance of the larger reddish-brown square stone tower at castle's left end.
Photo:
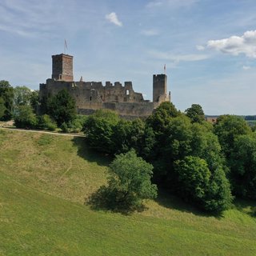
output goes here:
<path id="1" fill-rule="evenodd" d="M 53 59 L 53 73 L 51 78 L 72 82 L 73 77 L 73 56 L 68 54 L 57 54 L 51 56 Z"/>

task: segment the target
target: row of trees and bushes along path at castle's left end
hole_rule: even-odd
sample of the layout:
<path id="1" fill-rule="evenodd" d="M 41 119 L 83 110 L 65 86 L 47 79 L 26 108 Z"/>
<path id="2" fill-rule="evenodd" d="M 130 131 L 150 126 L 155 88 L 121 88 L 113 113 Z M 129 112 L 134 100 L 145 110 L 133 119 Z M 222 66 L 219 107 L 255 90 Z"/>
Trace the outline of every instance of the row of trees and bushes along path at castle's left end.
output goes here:
<path id="1" fill-rule="evenodd" d="M 42 111 L 38 111 L 38 106 Z M 40 114 L 38 114 L 40 112 Z M 66 90 L 39 102 L 38 90 L 26 86 L 13 88 L 0 81 L 0 120 L 14 119 L 18 128 L 79 131 L 84 118 L 76 114 L 74 98 Z"/>

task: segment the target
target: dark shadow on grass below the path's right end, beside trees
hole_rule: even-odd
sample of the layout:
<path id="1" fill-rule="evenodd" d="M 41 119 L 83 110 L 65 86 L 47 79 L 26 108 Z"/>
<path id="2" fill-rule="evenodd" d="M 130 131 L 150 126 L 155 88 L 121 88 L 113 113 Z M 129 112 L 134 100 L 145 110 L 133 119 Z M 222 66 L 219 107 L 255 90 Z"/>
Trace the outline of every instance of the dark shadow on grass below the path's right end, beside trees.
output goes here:
<path id="1" fill-rule="evenodd" d="M 113 160 L 113 157 L 109 154 L 90 149 L 86 143 L 86 138 L 74 137 L 72 142 L 78 148 L 78 155 L 89 162 L 96 162 L 99 166 L 108 166 Z"/>

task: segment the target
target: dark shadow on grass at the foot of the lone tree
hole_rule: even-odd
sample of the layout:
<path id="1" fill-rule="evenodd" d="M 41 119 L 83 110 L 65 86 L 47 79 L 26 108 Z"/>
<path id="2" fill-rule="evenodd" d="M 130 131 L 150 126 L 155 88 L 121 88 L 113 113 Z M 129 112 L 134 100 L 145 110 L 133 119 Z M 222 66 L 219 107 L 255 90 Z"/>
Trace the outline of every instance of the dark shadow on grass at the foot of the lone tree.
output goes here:
<path id="1" fill-rule="evenodd" d="M 109 187 L 101 186 L 96 192 L 86 199 L 85 204 L 90 206 L 91 210 L 111 211 L 129 215 L 135 211 L 142 212 L 146 206 L 142 203 L 133 203 L 130 200 L 118 200 L 118 192 L 110 190 Z"/>

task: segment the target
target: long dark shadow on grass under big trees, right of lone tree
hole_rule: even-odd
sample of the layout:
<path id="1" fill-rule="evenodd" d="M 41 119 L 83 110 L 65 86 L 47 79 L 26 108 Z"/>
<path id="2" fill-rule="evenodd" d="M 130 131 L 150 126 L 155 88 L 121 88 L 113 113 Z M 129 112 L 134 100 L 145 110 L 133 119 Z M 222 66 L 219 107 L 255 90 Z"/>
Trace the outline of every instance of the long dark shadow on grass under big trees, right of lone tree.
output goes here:
<path id="1" fill-rule="evenodd" d="M 185 213 L 194 214 L 197 216 L 202 217 L 215 217 L 215 218 L 221 218 L 221 214 L 213 214 L 208 213 L 206 211 L 200 210 L 198 207 L 193 206 L 192 202 L 185 202 L 181 198 L 178 198 L 178 196 L 171 194 L 169 190 L 165 189 L 159 189 L 158 188 L 158 198 L 155 199 L 156 202 L 160 206 L 164 206 L 165 208 L 173 209 L 173 210 L 179 210 Z"/>

